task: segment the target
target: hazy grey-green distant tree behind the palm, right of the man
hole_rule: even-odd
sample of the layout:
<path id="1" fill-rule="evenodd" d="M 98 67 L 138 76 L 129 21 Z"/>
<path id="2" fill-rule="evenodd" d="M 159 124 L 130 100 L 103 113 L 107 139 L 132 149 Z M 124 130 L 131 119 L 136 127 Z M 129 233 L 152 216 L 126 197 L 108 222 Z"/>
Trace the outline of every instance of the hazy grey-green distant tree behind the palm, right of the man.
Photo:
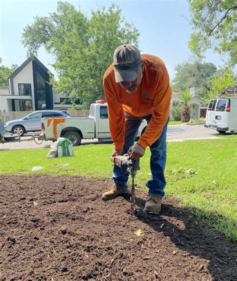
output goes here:
<path id="1" fill-rule="evenodd" d="M 199 96 L 207 96 L 210 90 L 210 79 L 216 72 L 216 66 L 211 62 L 193 62 L 184 61 L 175 66 L 175 76 L 171 81 L 172 90 L 182 90 L 192 86 L 199 88 Z"/>

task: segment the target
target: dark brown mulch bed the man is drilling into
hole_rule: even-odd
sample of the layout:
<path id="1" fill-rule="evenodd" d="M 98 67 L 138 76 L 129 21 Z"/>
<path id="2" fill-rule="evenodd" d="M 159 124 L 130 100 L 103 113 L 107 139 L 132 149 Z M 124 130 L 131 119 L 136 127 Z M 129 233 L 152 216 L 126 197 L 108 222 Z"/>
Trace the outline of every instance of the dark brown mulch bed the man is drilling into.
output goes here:
<path id="1" fill-rule="evenodd" d="M 160 216 L 144 214 L 143 191 L 130 216 L 127 198 L 100 199 L 110 184 L 0 175 L 1 279 L 236 279 L 233 242 L 168 198 Z"/>

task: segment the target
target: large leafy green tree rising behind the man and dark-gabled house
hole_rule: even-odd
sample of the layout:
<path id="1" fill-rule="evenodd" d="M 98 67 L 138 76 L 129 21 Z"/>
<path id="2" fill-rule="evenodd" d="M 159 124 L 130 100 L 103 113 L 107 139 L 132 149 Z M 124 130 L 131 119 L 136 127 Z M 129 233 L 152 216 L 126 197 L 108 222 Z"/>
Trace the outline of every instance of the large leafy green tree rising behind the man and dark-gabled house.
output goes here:
<path id="1" fill-rule="evenodd" d="M 138 30 L 124 20 L 115 5 L 99 7 L 87 18 L 67 2 L 59 1 L 56 12 L 47 17 L 36 16 L 23 29 L 21 42 L 28 54 L 37 55 L 40 46 L 54 56 L 52 64 L 58 74 L 50 82 L 83 107 L 104 98 L 102 78 L 112 63 L 114 49 L 121 44 L 138 45 Z"/>

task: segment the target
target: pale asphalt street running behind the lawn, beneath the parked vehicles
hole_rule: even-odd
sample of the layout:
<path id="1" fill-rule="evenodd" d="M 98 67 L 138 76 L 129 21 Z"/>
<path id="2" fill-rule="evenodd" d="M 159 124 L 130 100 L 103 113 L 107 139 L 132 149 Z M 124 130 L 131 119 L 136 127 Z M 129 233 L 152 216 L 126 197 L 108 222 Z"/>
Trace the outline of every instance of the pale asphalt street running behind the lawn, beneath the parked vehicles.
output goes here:
<path id="1" fill-rule="evenodd" d="M 206 139 L 216 138 L 219 133 L 214 129 L 204 128 L 203 125 L 187 125 L 178 124 L 170 125 L 167 128 L 167 141 L 183 141 L 190 139 Z M 32 148 L 49 148 L 53 143 L 52 141 L 43 141 L 41 144 L 36 144 L 34 141 L 28 141 L 31 135 L 25 135 L 21 137 L 25 141 L 22 142 L 9 142 L 0 143 L 0 150 L 15 150 L 15 149 L 32 149 Z M 98 141 L 97 138 L 82 139 L 81 145 L 88 143 L 111 143 L 111 140 Z"/>

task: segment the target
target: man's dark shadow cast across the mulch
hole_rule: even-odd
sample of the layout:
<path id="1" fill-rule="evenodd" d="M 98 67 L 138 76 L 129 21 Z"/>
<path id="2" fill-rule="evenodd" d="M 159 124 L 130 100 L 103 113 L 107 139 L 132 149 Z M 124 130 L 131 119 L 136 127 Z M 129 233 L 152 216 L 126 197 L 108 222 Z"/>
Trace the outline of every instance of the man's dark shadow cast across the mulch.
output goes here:
<path id="1" fill-rule="evenodd" d="M 236 244 L 208 228 L 193 215 L 193 212 L 212 217 L 215 214 L 204 214 L 200 209 L 193 209 L 192 212 L 190 208 L 176 206 L 170 199 L 167 199 L 168 203 L 165 203 L 165 199 L 163 201 L 160 215 L 152 215 L 143 213 L 145 200 L 136 198 L 136 204 L 141 208 L 137 210 L 137 218 L 155 231 L 163 232 L 181 250 L 208 260 L 208 270 L 214 280 L 236 279 Z"/>

